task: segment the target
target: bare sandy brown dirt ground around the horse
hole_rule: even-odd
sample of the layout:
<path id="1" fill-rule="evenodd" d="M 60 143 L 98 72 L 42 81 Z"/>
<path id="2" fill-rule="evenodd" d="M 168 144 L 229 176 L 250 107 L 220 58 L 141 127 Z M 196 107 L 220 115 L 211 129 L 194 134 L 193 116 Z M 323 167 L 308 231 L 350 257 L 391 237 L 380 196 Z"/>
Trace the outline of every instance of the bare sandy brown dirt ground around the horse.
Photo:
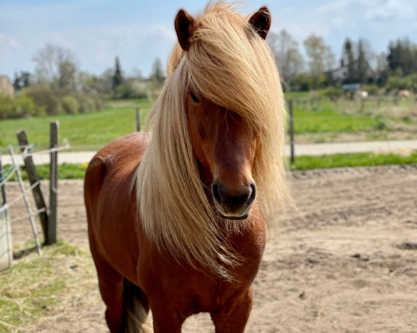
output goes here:
<path id="1" fill-rule="evenodd" d="M 246 332 L 417 332 L 417 166 L 288 178 L 298 212 L 268 240 Z M 10 200 L 18 193 L 8 186 Z M 82 181 L 60 181 L 58 203 L 58 239 L 88 249 Z M 24 210 L 12 208 L 12 219 Z M 26 220 L 12 232 L 15 244 L 31 238 Z M 85 293 L 33 332 L 108 332 L 94 281 Z M 213 326 L 202 314 L 183 332 Z"/>

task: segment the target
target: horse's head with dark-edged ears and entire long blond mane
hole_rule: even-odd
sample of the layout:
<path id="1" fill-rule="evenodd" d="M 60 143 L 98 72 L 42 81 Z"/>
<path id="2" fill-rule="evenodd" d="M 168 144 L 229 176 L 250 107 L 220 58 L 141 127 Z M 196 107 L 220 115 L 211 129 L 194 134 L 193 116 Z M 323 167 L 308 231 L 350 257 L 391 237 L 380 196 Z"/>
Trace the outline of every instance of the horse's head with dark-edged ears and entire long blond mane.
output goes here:
<path id="1" fill-rule="evenodd" d="M 227 232 L 262 230 L 262 217 L 286 195 L 284 96 L 265 42 L 270 13 L 261 8 L 246 17 L 235 9 L 219 1 L 196 18 L 179 11 L 178 43 L 136 176 L 149 239 L 179 262 L 202 263 L 227 278 L 219 260 L 231 265 L 235 257 L 217 215 L 252 215 L 226 223 Z"/>

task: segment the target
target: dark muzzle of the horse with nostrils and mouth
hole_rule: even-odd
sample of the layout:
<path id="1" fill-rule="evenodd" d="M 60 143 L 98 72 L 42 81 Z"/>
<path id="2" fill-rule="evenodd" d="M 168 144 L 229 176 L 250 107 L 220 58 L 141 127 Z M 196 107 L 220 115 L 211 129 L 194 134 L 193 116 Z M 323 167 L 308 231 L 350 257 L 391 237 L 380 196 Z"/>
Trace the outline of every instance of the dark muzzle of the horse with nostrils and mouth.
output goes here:
<path id="1" fill-rule="evenodd" d="M 231 190 L 216 179 L 211 184 L 211 193 L 222 219 L 243 220 L 249 217 L 256 198 L 256 185 L 254 181 L 251 181 L 237 190 Z"/>

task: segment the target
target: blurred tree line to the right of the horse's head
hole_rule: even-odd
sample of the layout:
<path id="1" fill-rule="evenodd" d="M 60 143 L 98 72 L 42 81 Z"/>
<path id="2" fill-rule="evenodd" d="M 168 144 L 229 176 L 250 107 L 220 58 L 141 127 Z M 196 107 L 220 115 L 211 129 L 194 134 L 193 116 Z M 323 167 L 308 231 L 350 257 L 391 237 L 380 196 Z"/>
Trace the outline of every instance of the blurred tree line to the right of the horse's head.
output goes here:
<path id="1" fill-rule="evenodd" d="M 367 40 L 346 37 L 340 62 L 323 38 L 314 34 L 302 43 L 306 59 L 300 44 L 284 29 L 271 32 L 267 42 L 287 91 L 361 83 L 417 92 L 417 45 L 408 38 L 389 42 L 387 51 L 377 54 Z"/>

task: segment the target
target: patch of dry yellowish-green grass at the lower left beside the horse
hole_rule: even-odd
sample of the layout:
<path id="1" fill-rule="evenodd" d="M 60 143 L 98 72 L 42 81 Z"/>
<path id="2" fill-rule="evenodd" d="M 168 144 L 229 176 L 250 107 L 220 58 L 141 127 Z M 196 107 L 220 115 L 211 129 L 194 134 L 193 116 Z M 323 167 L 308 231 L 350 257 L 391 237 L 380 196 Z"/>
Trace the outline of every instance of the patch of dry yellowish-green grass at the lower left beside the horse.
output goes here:
<path id="1" fill-rule="evenodd" d="M 60 242 L 24 255 L 0 273 L 0 332 L 40 332 L 42 323 L 69 319 L 69 309 L 95 305 L 97 293 L 90 253 Z"/>

